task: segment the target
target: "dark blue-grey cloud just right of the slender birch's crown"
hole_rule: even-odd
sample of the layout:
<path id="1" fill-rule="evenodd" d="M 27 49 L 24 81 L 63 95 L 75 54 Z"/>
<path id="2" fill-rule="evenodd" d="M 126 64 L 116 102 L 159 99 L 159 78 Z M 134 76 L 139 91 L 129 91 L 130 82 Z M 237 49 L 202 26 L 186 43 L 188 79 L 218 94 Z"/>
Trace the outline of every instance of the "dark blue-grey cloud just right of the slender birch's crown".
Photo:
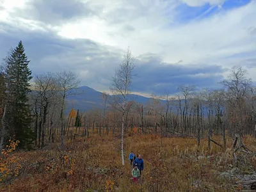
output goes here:
<path id="1" fill-rule="evenodd" d="M 181 84 L 197 88 L 220 88 L 218 82 L 223 79 L 227 68 L 218 65 L 180 65 L 163 63 L 161 58 L 148 56 L 137 60 L 136 74 L 132 86 L 135 92 L 164 94 L 177 93 Z"/>

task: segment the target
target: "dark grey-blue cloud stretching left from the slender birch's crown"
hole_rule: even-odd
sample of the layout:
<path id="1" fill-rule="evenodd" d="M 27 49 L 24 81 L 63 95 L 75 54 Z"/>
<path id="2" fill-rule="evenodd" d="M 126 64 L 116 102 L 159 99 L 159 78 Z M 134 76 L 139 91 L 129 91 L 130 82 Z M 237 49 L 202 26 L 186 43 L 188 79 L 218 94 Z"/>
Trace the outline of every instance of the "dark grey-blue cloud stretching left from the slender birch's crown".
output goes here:
<path id="1" fill-rule="evenodd" d="M 124 53 L 120 49 L 100 45 L 92 40 L 60 38 L 54 31 L 19 31 L 10 26 L 4 28 L 6 33 L 0 32 L 1 58 L 10 47 L 17 46 L 19 40 L 22 40 L 34 75 L 72 70 L 83 80 L 81 84 L 97 89 L 109 86 L 111 75 Z"/>

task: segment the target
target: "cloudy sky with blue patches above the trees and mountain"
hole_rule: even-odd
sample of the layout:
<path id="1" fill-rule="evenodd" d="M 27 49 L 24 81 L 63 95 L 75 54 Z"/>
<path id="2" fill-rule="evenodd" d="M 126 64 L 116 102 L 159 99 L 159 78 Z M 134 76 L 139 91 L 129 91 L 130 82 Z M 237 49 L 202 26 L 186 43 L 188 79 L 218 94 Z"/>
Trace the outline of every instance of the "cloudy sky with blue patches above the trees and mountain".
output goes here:
<path id="1" fill-rule="evenodd" d="M 127 48 L 132 92 L 220 88 L 230 68 L 256 81 L 255 0 L 0 0 L 0 58 L 22 40 L 36 74 L 71 70 L 108 92 Z"/>

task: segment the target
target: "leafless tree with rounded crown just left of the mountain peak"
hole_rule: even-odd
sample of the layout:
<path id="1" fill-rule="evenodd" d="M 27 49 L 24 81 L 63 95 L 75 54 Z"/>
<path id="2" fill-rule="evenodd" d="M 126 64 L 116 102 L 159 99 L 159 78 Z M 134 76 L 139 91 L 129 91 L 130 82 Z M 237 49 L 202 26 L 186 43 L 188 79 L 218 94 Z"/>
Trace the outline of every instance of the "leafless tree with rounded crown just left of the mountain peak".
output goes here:
<path id="1" fill-rule="evenodd" d="M 76 74 L 71 71 L 59 72 L 57 74 L 57 79 L 60 87 L 60 95 L 61 95 L 61 111 L 60 111 L 60 120 L 61 120 L 61 146 L 60 148 L 64 147 L 64 118 L 63 118 L 63 111 L 64 111 L 64 104 L 65 99 L 72 95 L 77 94 L 77 87 L 79 86 L 80 80 L 77 78 Z"/>

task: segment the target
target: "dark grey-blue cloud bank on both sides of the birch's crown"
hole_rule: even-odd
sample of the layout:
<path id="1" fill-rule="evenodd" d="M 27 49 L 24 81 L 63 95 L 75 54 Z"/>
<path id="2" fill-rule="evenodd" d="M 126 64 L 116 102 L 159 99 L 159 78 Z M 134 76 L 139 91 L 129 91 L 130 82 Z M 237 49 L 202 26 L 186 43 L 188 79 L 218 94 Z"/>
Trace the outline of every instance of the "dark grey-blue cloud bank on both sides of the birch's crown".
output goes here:
<path id="1" fill-rule="evenodd" d="M 4 28 L 7 33 L 1 34 L 1 47 L 15 47 L 22 39 L 34 75 L 48 71 L 58 72 L 60 69 L 72 70 L 82 79 L 81 84 L 97 90 L 109 89 L 111 76 L 124 54 L 122 50 L 102 46 L 91 40 L 70 40 L 60 38 L 53 32 L 21 33 L 8 29 L 7 26 Z M 16 35 L 8 35 L 11 32 Z M 216 86 L 223 69 L 220 66 L 163 63 L 155 54 L 143 54 L 136 58 L 135 72 L 138 76 L 134 78 L 133 92 L 161 95 L 167 90 L 170 93 L 177 92 L 180 84 Z"/>

